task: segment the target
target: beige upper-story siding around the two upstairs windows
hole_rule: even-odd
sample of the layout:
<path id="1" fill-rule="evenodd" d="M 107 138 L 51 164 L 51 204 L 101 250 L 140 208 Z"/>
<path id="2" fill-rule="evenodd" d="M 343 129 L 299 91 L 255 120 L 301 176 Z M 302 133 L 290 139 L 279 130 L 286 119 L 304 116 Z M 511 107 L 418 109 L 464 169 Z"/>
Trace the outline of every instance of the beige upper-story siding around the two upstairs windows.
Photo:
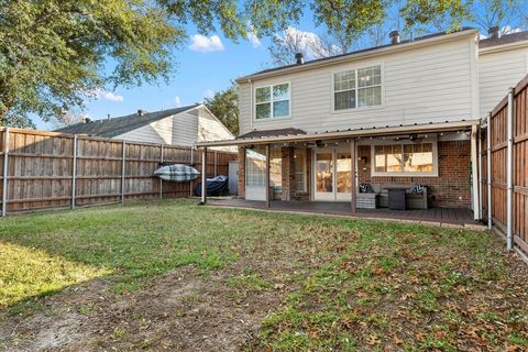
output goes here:
<path id="1" fill-rule="evenodd" d="M 306 132 L 476 118 L 475 36 L 253 81 L 290 82 L 292 117 L 252 121 L 251 85 L 240 85 L 241 133 L 295 127 Z M 333 73 L 382 66 L 381 107 L 333 111 Z M 476 72 L 476 67 L 473 67 Z M 475 75 L 476 76 L 476 75 Z"/>

